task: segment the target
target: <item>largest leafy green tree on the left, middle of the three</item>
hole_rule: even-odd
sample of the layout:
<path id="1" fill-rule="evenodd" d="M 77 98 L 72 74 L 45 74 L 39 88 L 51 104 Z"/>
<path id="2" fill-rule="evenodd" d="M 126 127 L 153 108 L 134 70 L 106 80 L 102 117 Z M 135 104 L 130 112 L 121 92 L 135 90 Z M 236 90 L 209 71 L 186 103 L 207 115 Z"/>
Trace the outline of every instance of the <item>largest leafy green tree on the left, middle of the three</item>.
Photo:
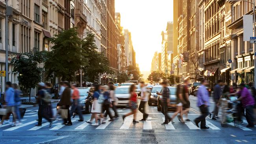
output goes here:
<path id="1" fill-rule="evenodd" d="M 80 48 L 81 40 L 76 28 L 63 30 L 50 41 L 54 46 L 45 62 L 46 77 L 50 78 L 54 74 L 62 80 L 73 81 L 75 72 L 87 63 L 87 59 L 83 58 L 86 54 Z"/>

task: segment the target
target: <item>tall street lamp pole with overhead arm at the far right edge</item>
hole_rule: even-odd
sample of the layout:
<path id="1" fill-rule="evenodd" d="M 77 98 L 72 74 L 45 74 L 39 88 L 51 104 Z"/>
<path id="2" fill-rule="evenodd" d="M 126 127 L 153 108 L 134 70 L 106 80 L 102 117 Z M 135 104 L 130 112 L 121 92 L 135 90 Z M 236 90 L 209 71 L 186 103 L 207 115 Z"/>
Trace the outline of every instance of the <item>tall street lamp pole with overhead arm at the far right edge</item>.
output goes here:
<path id="1" fill-rule="evenodd" d="M 255 25 L 255 3 L 252 1 L 252 2 L 249 2 L 247 0 L 228 0 L 229 2 L 232 2 L 232 1 L 242 1 L 242 2 L 248 2 L 250 4 L 253 5 L 253 26 L 254 26 L 254 37 L 256 37 L 256 25 Z M 254 86 L 256 87 L 256 43 L 254 43 Z"/>

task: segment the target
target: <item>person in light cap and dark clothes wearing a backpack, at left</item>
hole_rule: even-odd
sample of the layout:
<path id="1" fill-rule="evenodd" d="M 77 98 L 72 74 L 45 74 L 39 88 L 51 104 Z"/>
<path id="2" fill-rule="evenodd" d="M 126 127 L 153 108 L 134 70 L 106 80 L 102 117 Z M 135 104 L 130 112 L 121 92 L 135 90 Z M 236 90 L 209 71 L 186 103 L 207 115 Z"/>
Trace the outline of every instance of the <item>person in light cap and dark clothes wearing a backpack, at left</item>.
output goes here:
<path id="1" fill-rule="evenodd" d="M 46 113 L 46 109 L 50 103 L 45 102 L 43 99 L 46 97 L 45 83 L 40 82 L 37 85 L 37 102 L 38 102 L 38 123 L 35 126 L 42 126 L 42 118 L 45 118 L 48 122 L 50 122 L 49 127 L 52 126 L 52 120 L 49 118 Z"/>

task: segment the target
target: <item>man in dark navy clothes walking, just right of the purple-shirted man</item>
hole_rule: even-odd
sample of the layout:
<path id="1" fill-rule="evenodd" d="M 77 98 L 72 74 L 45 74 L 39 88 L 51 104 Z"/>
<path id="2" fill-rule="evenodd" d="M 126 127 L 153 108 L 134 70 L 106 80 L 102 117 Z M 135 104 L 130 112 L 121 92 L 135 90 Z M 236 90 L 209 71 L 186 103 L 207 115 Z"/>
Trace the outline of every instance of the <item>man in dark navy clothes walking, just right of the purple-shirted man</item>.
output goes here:
<path id="1" fill-rule="evenodd" d="M 219 103 L 219 99 L 221 98 L 221 86 L 223 85 L 223 81 L 221 79 L 219 79 L 217 81 L 217 85 L 214 86 L 213 89 L 213 98 L 214 98 L 214 102 L 215 102 L 215 107 L 214 110 L 209 113 L 209 117 L 211 118 L 211 120 L 217 120 L 216 118 L 218 118 L 218 113 L 219 113 L 219 107 L 218 107 L 218 103 Z M 211 117 L 212 115 L 212 117 Z"/>

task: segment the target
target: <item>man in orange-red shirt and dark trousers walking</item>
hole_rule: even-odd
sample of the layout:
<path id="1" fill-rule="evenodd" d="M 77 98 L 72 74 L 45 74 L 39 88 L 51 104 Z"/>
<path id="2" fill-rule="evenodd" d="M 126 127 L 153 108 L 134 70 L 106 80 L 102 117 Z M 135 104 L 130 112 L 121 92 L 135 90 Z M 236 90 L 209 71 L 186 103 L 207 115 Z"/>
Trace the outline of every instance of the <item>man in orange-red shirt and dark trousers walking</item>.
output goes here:
<path id="1" fill-rule="evenodd" d="M 77 110 L 78 115 L 79 115 L 78 122 L 83 122 L 81 106 L 79 105 L 79 99 L 80 99 L 79 90 L 76 88 L 76 84 L 74 84 L 74 83 L 72 84 L 71 89 L 73 90 L 73 92 L 72 92 L 73 102 L 72 102 L 71 109 L 70 109 L 70 116 L 73 116 L 73 118 L 74 118 L 76 115 L 75 110 Z"/>

